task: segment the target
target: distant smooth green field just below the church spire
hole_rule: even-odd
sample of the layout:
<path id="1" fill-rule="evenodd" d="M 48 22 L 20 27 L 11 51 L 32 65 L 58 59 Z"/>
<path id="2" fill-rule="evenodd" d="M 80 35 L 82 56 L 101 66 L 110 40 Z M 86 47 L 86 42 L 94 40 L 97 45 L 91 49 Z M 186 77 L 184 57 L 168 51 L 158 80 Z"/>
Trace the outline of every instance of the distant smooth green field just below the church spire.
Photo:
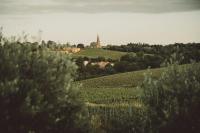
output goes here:
<path id="1" fill-rule="evenodd" d="M 73 57 L 86 56 L 89 58 L 105 57 L 106 59 L 120 59 L 121 56 L 127 54 L 126 52 L 111 51 L 97 48 L 86 48 L 78 53 L 73 54 Z"/>

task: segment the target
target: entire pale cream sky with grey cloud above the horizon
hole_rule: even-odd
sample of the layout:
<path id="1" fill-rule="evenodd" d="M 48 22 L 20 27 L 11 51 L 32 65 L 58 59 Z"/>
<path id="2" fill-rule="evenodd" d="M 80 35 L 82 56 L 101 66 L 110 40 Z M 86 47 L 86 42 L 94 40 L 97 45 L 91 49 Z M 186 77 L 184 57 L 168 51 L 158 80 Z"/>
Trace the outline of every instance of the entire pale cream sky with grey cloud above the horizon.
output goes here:
<path id="1" fill-rule="evenodd" d="M 0 0 L 0 26 L 71 44 L 200 42 L 200 0 Z"/>

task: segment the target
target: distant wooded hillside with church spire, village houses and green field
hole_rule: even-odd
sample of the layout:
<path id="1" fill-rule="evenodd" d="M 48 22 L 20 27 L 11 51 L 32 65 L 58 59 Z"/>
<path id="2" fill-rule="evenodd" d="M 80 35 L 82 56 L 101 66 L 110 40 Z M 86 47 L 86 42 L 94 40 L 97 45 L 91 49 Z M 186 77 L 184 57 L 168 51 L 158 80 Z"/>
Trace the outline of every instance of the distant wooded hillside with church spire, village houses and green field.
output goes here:
<path id="1" fill-rule="evenodd" d="M 56 44 L 52 41 L 42 45 L 52 51 L 69 54 L 78 66 L 77 80 L 160 68 L 165 66 L 177 51 L 176 58 L 180 64 L 190 63 L 191 60 L 200 61 L 199 43 L 102 45 L 97 35 L 96 41 L 90 45 Z"/>

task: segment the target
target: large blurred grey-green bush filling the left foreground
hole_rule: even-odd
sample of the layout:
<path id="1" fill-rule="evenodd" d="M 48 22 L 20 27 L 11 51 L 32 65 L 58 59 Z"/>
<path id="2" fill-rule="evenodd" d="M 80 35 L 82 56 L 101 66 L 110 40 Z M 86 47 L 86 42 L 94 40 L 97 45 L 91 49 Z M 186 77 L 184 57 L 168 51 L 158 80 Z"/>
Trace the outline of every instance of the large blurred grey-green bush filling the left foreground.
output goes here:
<path id="1" fill-rule="evenodd" d="M 76 66 L 37 44 L 0 44 L 0 132 L 83 132 Z M 86 131 L 87 132 L 87 131 Z"/>

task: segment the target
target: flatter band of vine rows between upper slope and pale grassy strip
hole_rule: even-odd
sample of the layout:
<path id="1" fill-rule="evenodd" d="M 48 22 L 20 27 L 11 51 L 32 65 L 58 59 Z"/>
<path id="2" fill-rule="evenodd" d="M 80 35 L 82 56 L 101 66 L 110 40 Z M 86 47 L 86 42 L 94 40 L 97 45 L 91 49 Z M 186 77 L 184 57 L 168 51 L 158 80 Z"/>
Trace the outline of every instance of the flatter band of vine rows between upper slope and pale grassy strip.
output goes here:
<path id="1" fill-rule="evenodd" d="M 123 104 L 138 98 L 139 88 L 85 88 L 81 90 L 85 102 L 93 104 Z"/>

